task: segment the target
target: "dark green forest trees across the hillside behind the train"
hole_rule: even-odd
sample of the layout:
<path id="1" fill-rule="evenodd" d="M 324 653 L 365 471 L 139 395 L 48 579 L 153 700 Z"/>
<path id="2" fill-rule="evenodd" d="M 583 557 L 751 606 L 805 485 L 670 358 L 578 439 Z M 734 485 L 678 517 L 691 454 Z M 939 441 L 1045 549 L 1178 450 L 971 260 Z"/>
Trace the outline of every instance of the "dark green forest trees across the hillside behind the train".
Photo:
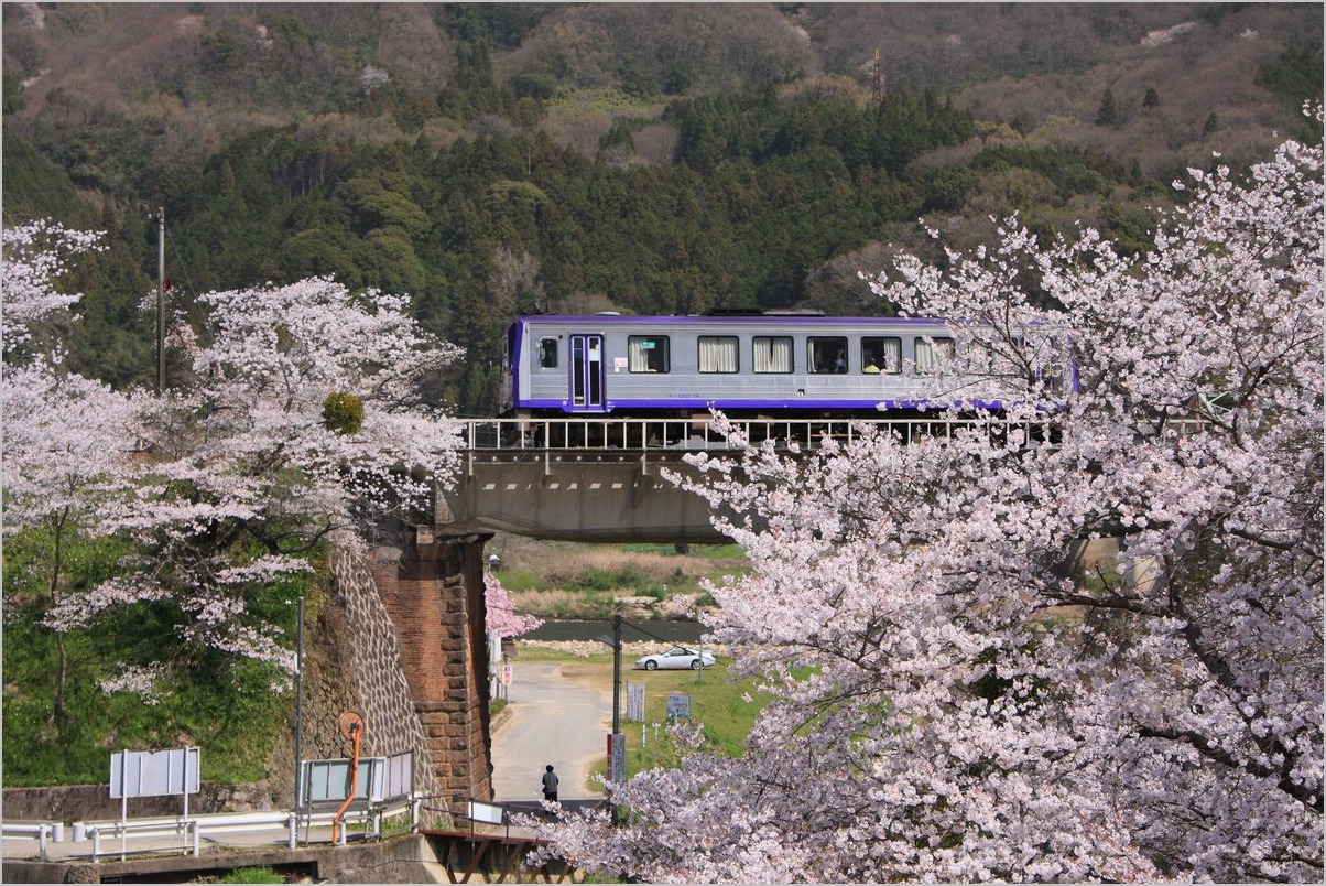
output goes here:
<path id="1" fill-rule="evenodd" d="M 575 52 L 607 66 L 585 72 L 578 89 L 579 73 L 560 78 L 550 61 L 560 53 L 573 60 L 574 46 L 560 37 L 548 42 L 538 28 L 552 9 L 440 5 L 431 15 L 456 42 L 455 77 L 434 94 L 392 69 L 392 82 L 367 97 L 357 74 L 377 64 L 365 46 L 390 31 L 385 16 L 261 9 L 271 58 L 239 52 L 247 38 L 239 19 L 204 16 L 200 57 L 208 70 L 176 84 L 179 102 L 221 106 L 243 94 L 371 115 L 387 130 L 390 118 L 411 135 L 362 138 L 296 118 L 215 138 L 207 157 L 176 155 L 154 167 L 159 153 L 147 149 L 147 135 L 126 127 L 50 130 L 32 146 L 7 130 L 7 212 L 53 207 L 70 220 L 77 188 L 118 206 L 164 207 L 167 273 L 176 281 L 170 308 L 195 324 L 204 320 L 198 293 L 256 281 L 325 275 L 353 289 L 406 293 L 427 329 L 465 349 L 464 362 L 431 387 L 435 403 L 485 415 L 497 403 L 501 329 L 514 312 L 536 309 L 530 286 L 513 296 L 503 283 L 501 255 L 529 256 L 537 267 L 532 285 L 542 310 L 587 300 L 640 314 L 784 308 L 819 298 L 822 271 L 871 247 L 887 225 L 911 225 L 928 212 L 985 218 L 1022 208 L 988 206 L 992 194 L 981 183 L 992 172 L 1024 167 L 1045 176 L 1054 188 L 1050 204 L 1063 208 L 1036 220 L 1046 233 L 1079 218 L 1101 223 L 1070 212 L 1074 196 L 1090 196 L 1086 206 L 1094 207 L 1119 200 L 1111 195 L 1119 182 L 1138 195 L 1148 184 L 1139 170 L 1130 176 L 1090 151 L 1000 147 L 969 163 L 918 163 L 935 149 L 968 143 L 972 114 L 928 90 L 891 89 L 876 103 L 846 80 L 780 88 L 794 65 L 729 92 L 688 90 L 662 106 L 659 97 L 707 77 L 697 56 L 636 52 L 609 62 L 581 46 Z M 611 33 L 635 33 L 652 20 L 639 11 L 575 15 L 577 27 Z M 708 13 L 687 15 L 700 21 Z M 335 81 L 350 85 L 310 101 L 308 78 L 289 70 L 346 64 L 317 48 L 338 45 L 335 34 L 354 31 L 351 23 L 365 34 L 347 49 L 358 68 Z M 503 81 L 495 53 L 536 31 L 546 58 Z M 609 70 L 615 73 L 601 80 Z M 260 74 L 273 82 L 260 82 Z M 585 146 L 597 149 L 595 158 L 538 129 L 549 109 L 562 121 L 602 121 Z M 168 101 L 160 113 L 172 113 Z M 659 162 L 672 135 L 674 155 Z M 983 200 L 979 208 L 973 199 Z M 111 251 L 81 281 L 88 322 L 72 341 L 70 363 L 117 386 L 150 383 L 154 328 L 137 302 L 155 277 L 155 231 L 139 214 L 98 220 L 84 211 L 81 220 L 107 227 Z M 175 361 L 168 354 L 168 375 L 182 369 Z"/>

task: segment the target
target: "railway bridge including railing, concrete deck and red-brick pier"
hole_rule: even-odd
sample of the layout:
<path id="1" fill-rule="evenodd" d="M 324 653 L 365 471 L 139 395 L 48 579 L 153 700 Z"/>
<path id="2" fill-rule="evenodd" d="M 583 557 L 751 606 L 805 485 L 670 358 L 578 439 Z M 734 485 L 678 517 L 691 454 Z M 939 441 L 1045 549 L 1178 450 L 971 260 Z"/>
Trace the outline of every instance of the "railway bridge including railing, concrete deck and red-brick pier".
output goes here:
<path id="1" fill-rule="evenodd" d="M 952 435 L 961 424 L 941 416 L 874 423 L 907 440 Z M 737 426 L 748 439 L 794 440 L 804 451 L 826 436 L 850 442 L 861 434 L 861 423 L 846 420 Z M 1044 427 L 1026 430 L 1032 440 L 1044 438 Z M 432 785 L 451 810 L 492 798 L 487 541 L 496 532 L 587 542 L 724 541 L 708 501 L 662 474 L 695 476 L 684 456 L 732 451 L 708 422 L 676 419 L 472 419 L 464 434 L 457 476 L 436 489 L 431 525 L 414 527 L 392 556 L 337 578 L 345 588 L 375 586 L 365 596 L 373 606 L 381 601 L 379 627 L 395 635 L 412 707 L 406 719 L 418 720 L 415 744 L 427 749 L 416 756 L 431 760 L 416 764 L 431 767 L 416 769 L 416 783 Z"/>

